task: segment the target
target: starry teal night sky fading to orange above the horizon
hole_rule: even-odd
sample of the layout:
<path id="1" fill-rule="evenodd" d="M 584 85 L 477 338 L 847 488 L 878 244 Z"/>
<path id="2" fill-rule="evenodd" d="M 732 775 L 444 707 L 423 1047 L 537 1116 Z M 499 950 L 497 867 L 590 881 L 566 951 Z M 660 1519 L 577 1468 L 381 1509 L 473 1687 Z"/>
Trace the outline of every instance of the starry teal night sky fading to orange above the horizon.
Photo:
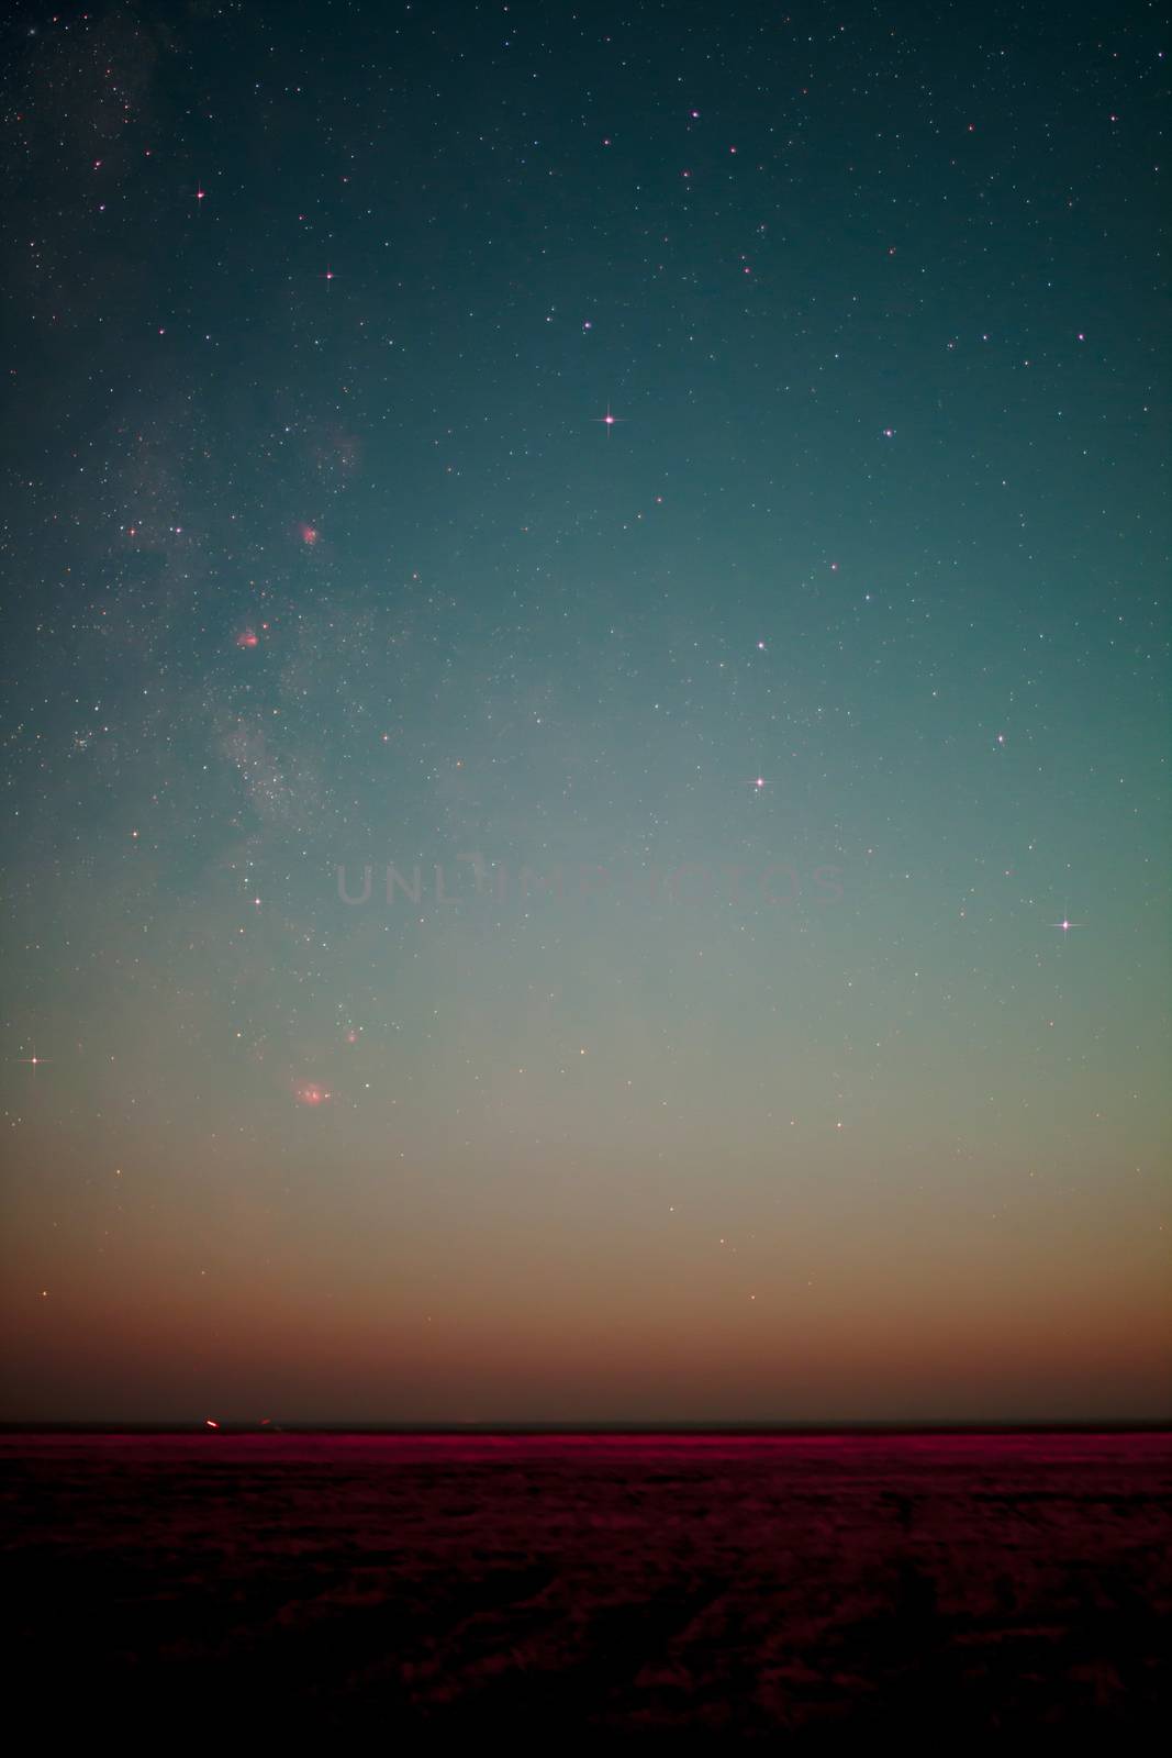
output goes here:
<path id="1" fill-rule="evenodd" d="M 1146 5 L 12 5 L 4 1413 L 1168 1413 Z"/>

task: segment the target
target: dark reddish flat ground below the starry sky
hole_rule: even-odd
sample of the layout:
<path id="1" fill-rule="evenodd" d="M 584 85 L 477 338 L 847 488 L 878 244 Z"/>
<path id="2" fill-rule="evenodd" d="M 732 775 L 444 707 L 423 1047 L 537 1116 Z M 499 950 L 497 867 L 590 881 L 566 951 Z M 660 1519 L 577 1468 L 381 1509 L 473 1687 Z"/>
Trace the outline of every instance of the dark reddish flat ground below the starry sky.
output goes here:
<path id="1" fill-rule="evenodd" d="M 0 1470 L 39 1744 L 1168 1725 L 1172 1436 L 9 1435 Z"/>

